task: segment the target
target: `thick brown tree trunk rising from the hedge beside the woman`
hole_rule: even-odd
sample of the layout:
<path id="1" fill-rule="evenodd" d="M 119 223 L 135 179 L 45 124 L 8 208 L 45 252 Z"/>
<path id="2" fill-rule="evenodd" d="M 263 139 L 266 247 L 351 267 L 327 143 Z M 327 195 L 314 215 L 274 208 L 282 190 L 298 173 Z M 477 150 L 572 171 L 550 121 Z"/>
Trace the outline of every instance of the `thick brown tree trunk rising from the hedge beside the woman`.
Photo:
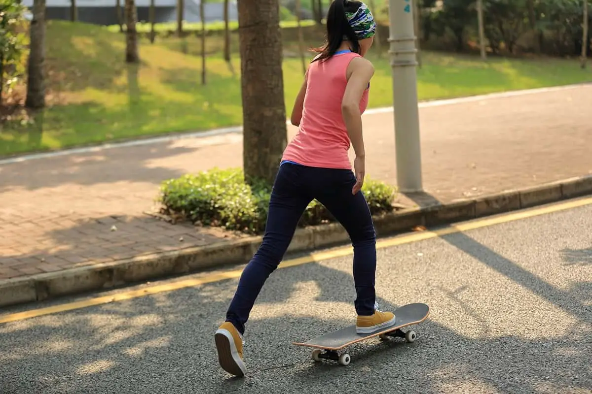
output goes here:
<path id="1" fill-rule="evenodd" d="M 273 183 L 287 145 L 277 0 L 240 0 L 243 165 L 247 182 Z"/>

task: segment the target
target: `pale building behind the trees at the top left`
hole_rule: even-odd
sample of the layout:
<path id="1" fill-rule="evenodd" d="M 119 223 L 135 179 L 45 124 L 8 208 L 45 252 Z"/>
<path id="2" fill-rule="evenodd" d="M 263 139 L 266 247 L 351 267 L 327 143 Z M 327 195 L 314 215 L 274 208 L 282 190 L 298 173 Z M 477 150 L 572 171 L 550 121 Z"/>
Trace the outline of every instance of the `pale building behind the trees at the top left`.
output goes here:
<path id="1" fill-rule="evenodd" d="M 125 0 L 121 0 L 123 8 Z M 22 0 L 22 4 L 31 8 L 33 0 Z M 47 19 L 70 20 L 70 0 L 46 0 Z M 98 24 L 117 24 L 117 13 L 115 12 L 116 0 L 76 0 L 78 6 L 78 21 Z M 155 0 L 156 22 L 176 21 L 177 0 Z M 136 0 L 138 10 L 138 21 L 149 20 L 150 0 Z M 224 4 L 205 2 L 205 20 L 208 22 L 224 20 Z M 238 12 L 236 0 L 230 0 L 230 20 L 236 21 Z M 185 0 L 184 20 L 186 22 L 200 21 L 200 0 Z"/>

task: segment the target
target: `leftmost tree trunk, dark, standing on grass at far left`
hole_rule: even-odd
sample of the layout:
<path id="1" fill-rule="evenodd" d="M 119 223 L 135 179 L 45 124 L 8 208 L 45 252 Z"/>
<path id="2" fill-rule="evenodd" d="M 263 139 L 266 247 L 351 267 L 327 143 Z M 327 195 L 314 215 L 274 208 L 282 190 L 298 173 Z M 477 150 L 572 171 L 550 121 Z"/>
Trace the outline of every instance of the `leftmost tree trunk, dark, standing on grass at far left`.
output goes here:
<path id="1" fill-rule="evenodd" d="M 33 20 L 31 21 L 31 43 L 27 64 L 27 108 L 45 106 L 45 0 L 33 1 Z"/>

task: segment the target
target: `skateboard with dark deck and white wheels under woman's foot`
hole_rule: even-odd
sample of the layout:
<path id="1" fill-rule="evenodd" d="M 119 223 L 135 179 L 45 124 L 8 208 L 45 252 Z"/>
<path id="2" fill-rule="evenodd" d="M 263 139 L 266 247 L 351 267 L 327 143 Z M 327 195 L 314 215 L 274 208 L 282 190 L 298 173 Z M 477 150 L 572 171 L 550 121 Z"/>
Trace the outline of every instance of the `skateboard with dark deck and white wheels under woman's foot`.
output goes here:
<path id="1" fill-rule="evenodd" d="M 344 349 L 354 343 L 380 337 L 381 340 L 389 340 L 390 338 L 405 338 L 407 342 L 415 342 L 417 334 L 415 331 L 401 330 L 407 325 L 422 323 L 430 314 L 430 307 L 426 304 L 415 303 L 403 305 L 392 311 L 397 318 L 395 324 L 390 327 L 382 328 L 369 334 L 356 333 L 356 326 L 341 328 L 329 334 L 324 334 L 316 338 L 312 338 L 306 342 L 292 342 L 295 346 L 313 347 L 313 360 L 320 362 L 321 360 L 334 360 L 341 365 L 348 365 L 351 357 L 347 353 L 339 354 L 339 350 Z M 324 350 L 324 351 L 323 351 Z"/>

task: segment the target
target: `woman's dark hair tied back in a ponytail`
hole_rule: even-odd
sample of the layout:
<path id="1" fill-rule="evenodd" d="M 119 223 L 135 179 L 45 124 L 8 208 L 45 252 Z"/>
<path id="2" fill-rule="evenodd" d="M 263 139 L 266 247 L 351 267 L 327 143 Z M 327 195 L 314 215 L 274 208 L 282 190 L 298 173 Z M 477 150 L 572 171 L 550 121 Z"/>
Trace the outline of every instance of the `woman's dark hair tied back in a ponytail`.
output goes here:
<path id="1" fill-rule="evenodd" d="M 361 2 L 351 0 L 334 0 L 331 3 L 329 12 L 327 12 L 326 42 L 323 47 L 314 49 L 314 51 L 320 53 L 320 56 L 314 58 L 313 61 L 324 61 L 332 57 L 343 43 L 344 36 L 348 37 L 348 40 L 352 43 L 352 51 L 360 53 L 358 37 L 350 26 L 345 13 L 356 12 L 361 5 Z"/>

